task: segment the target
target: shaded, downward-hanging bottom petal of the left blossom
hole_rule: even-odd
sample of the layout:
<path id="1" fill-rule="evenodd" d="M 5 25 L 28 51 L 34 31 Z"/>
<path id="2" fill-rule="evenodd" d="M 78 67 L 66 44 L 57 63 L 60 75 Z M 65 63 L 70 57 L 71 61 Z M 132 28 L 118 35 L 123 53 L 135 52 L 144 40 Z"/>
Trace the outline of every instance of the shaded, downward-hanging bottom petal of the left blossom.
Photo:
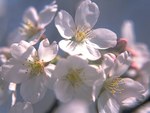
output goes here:
<path id="1" fill-rule="evenodd" d="M 25 101 L 34 104 L 44 97 L 47 88 L 44 84 L 43 76 L 30 77 L 21 84 L 20 94 Z"/>

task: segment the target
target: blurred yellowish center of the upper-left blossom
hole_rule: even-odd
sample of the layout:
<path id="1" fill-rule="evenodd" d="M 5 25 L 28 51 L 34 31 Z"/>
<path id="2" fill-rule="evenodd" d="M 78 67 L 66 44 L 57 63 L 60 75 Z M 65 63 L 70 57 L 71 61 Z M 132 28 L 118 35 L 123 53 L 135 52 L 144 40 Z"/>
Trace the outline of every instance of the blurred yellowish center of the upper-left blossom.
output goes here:
<path id="1" fill-rule="evenodd" d="M 28 38 L 33 37 L 38 31 L 37 25 L 35 25 L 31 20 L 26 19 L 22 28 L 20 28 L 21 33 L 26 35 Z"/>

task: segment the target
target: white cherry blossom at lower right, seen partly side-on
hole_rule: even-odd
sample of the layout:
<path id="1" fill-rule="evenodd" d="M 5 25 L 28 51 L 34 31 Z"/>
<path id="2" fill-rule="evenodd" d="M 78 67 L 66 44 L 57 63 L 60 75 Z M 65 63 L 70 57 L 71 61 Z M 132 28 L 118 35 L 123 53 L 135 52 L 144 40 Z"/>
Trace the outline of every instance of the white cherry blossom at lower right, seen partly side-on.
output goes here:
<path id="1" fill-rule="evenodd" d="M 110 65 L 111 68 L 105 68 L 103 83 L 97 83 L 94 86 L 94 95 L 98 96 L 100 113 L 119 113 L 122 102 L 130 97 L 140 97 L 144 92 L 144 87 L 130 78 L 121 78 L 121 75 L 127 71 L 131 63 L 131 57 L 126 51 L 116 59 L 108 56 L 105 56 L 105 58 L 104 63 L 109 60 L 113 65 Z"/>

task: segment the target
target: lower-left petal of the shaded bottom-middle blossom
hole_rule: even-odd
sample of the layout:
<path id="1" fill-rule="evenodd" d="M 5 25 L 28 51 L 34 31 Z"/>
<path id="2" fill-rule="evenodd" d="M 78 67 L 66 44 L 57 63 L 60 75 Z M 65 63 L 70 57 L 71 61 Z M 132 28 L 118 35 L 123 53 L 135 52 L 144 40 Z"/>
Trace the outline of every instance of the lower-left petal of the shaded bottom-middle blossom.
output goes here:
<path id="1" fill-rule="evenodd" d="M 66 80 L 56 81 L 54 85 L 54 91 L 56 97 L 61 102 L 68 102 L 73 98 L 74 94 L 73 87 Z"/>

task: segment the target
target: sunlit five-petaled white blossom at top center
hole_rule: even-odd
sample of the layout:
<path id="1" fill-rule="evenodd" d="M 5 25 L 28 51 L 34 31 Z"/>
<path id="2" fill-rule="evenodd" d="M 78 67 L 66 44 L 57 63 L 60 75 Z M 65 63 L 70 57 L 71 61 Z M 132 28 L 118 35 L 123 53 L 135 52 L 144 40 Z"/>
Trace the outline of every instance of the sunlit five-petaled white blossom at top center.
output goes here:
<path id="1" fill-rule="evenodd" d="M 58 12 L 55 26 L 64 38 L 59 42 L 60 48 L 70 55 L 82 54 L 89 60 L 101 57 L 99 49 L 114 47 L 116 34 L 105 28 L 92 29 L 99 17 L 99 8 L 90 0 L 81 2 L 72 16 L 64 10 Z"/>

